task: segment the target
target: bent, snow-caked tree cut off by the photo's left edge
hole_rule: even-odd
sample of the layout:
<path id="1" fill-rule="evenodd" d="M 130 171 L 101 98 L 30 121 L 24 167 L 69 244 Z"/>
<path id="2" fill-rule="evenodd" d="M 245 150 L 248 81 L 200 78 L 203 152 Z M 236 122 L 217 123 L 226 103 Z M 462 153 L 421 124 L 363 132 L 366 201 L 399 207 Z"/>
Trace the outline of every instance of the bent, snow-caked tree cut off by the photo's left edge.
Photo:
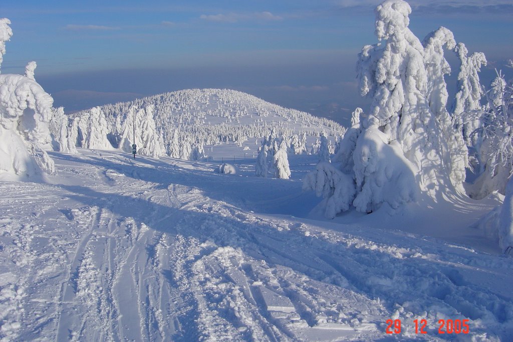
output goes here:
<path id="1" fill-rule="evenodd" d="M 12 36 L 10 23 L 0 19 L 0 64 Z M 0 174 L 32 177 L 55 171 L 45 151 L 52 149 L 52 103 L 33 78 L 0 74 Z"/>

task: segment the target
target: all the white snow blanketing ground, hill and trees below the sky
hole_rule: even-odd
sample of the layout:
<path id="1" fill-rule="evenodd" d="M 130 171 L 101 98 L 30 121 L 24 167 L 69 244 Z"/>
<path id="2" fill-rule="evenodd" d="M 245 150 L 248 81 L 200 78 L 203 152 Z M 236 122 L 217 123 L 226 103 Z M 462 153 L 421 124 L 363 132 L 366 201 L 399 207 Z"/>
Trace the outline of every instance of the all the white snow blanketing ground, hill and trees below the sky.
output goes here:
<path id="1" fill-rule="evenodd" d="M 1 74 L 0 341 L 513 340 L 513 180 L 505 196 L 461 187 L 464 117 L 501 126 L 509 85 L 499 74 L 478 108 L 484 55 L 446 28 L 421 43 L 410 13 L 377 7 L 382 43 L 358 64 L 373 103 L 347 131 L 226 89 L 66 115 L 35 62 Z M 444 49 L 462 62 L 450 113 Z"/>

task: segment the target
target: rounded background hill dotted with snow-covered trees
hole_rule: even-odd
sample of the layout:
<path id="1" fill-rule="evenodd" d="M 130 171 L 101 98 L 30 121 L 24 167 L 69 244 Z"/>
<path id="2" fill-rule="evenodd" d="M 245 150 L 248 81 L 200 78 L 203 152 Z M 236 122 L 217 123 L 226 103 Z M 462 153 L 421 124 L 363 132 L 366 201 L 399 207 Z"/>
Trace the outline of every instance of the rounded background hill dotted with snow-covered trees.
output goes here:
<path id="1" fill-rule="evenodd" d="M 61 113 L 54 120 L 63 118 Z M 72 152 L 77 146 L 130 152 L 135 128 L 139 154 L 182 159 L 196 159 L 192 152 L 205 145 L 242 147 L 249 138 L 267 137 L 272 130 L 280 137 L 302 132 L 318 136 L 322 131 L 334 137 L 345 132 L 331 120 L 227 89 L 182 90 L 95 107 L 71 114 L 68 127 L 67 136 L 54 132 L 61 151 Z"/>

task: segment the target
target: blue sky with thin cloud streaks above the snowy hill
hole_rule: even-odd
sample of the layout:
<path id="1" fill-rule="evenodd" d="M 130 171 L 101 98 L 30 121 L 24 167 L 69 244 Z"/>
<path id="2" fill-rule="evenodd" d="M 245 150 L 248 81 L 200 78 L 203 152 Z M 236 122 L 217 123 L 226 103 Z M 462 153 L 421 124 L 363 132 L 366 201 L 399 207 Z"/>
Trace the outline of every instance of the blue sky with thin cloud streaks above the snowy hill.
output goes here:
<path id="1" fill-rule="evenodd" d="M 343 121 L 357 53 L 376 43 L 373 0 L 3 0 L 14 32 L 2 64 L 36 79 L 67 111 L 186 88 L 233 88 Z M 440 26 L 483 51 L 490 78 L 513 58 L 513 1 L 412 0 L 421 39 Z M 429 6 L 425 4 L 429 3 Z M 453 73 L 454 74 L 454 73 Z"/>

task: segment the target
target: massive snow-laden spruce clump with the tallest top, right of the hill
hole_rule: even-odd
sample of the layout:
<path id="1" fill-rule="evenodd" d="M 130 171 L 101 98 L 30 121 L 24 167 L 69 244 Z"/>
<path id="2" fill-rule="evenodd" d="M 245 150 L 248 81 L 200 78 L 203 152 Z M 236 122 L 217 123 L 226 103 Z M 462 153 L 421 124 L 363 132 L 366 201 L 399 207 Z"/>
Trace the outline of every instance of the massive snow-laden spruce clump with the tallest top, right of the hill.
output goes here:
<path id="1" fill-rule="evenodd" d="M 332 199 L 339 208 L 330 214 L 346 210 L 347 200 L 349 207 L 371 212 L 384 203 L 398 208 L 421 192 L 438 199 L 443 192 L 463 192 L 467 151 L 446 109 L 444 80 L 450 72 L 444 48 L 455 49 L 456 43 L 445 28 L 421 43 L 408 28 L 410 13 L 403 0 L 386 0 L 376 8 L 381 43 L 363 47 L 357 63 L 361 95 L 372 98 L 370 111 L 353 113 L 353 126 L 333 157 L 349 176 L 340 178 L 333 194 L 352 184 L 354 198 Z M 312 182 L 311 176 L 305 187 L 319 187 L 323 173 L 314 172 L 318 178 Z"/>

